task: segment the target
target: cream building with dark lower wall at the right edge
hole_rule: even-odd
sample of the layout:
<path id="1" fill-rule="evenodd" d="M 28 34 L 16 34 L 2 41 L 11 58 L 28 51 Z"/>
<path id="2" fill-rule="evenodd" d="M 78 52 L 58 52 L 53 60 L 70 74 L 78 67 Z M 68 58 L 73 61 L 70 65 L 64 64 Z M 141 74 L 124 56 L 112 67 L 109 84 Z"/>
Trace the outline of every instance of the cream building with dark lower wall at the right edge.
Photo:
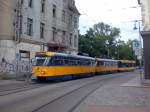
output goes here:
<path id="1" fill-rule="evenodd" d="M 144 78 L 150 79 L 150 0 L 138 0 L 142 9 L 144 28 L 141 31 L 144 46 Z"/>

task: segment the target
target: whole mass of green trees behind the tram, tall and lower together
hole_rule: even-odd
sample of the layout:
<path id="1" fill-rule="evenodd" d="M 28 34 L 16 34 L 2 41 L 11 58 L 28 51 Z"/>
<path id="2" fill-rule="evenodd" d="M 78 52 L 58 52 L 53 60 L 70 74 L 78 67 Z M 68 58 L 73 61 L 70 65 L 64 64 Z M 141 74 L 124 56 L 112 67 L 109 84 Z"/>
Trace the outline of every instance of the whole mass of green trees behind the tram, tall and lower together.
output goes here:
<path id="1" fill-rule="evenodd" d="M 105 23 L 95 24 L 85 35 L 79 36 L 79 51 L 92 57 L 134 59 L 132 41 L 118 40 L 120 29 Z"/>

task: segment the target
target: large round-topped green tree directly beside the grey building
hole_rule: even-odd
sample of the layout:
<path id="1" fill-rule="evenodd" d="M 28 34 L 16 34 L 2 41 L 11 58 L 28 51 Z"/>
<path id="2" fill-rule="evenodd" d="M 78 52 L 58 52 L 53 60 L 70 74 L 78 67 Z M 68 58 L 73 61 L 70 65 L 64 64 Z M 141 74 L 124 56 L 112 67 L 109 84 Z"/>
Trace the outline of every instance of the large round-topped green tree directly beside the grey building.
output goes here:
<path id="1" fill-rule="evenodd" d="M 95 24 L 85 35 L 80 35 L 79 51 L 88 53 L 93 57 L 106 58 L 108 49 L 110 57 L 113 57 L 113 50 L 116 39 L 120 35 L 120 29 L 111 27 L 103 22 Z M 108 44 L 106 44 L 108 41 Z"/>

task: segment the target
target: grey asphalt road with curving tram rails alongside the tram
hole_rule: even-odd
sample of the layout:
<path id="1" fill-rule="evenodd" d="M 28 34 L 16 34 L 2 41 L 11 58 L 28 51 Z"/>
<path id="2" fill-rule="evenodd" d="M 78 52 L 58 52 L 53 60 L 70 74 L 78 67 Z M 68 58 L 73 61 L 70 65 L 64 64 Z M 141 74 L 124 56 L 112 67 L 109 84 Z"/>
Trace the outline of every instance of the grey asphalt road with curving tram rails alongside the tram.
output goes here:
<path id="1" fill-rule="evenodd" d="M 0 112 L 73 112 L 90 94 L 136 73 L 119 73 L 57 83 L 0 84 Z"/>

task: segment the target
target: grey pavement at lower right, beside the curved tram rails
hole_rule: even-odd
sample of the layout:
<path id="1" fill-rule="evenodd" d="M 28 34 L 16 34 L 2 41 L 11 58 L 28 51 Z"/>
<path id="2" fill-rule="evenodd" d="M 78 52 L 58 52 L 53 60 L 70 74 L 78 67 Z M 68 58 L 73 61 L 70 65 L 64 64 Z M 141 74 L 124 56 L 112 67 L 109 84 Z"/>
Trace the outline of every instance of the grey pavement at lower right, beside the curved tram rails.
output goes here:
<path id="1" fill-rule="evenodd" d="M 150 112 L 150 87 L 139 79 L 134 72 L 104 84 L 74 112 Z"/>

